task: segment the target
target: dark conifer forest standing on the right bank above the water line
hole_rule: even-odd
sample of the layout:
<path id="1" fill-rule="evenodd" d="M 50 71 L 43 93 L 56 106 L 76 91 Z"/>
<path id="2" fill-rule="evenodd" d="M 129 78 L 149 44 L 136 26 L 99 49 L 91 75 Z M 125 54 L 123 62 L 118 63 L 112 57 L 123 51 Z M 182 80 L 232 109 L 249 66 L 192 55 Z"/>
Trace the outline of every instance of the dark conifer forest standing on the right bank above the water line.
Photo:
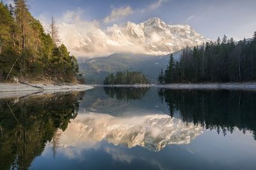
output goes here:
<path id="1" fill-rule="evenodd" d="M 224 36 L 193 50 L 187 47 L 175 61 L 170 56 L 168 67 L 161 71 L 160 83 L 228 82 L 256 80 L 256 32 L 252 39 L 235 42 Z"/>

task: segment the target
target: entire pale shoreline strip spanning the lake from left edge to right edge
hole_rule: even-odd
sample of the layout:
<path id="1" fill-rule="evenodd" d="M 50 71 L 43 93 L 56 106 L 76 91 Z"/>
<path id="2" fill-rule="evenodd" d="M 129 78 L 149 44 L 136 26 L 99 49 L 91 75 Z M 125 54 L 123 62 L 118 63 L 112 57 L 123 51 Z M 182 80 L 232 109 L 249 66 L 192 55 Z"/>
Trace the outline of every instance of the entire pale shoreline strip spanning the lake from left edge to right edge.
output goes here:
<path id="1" fill-rule="evenodd" d="M 12 93 L 31 94 L 44 91 L 89 90 L 93 87 L 132 87 L 132 88 L 164 88 L 173 90 L 256 90 L 256 82 L 250 83 L 173 83 L 173 84 L 134 84 L 134 85 L 56 85 L 44 83 L 0 83 L 0 96 Z M 5 95 L 3 95 L 5 94 Z"/>

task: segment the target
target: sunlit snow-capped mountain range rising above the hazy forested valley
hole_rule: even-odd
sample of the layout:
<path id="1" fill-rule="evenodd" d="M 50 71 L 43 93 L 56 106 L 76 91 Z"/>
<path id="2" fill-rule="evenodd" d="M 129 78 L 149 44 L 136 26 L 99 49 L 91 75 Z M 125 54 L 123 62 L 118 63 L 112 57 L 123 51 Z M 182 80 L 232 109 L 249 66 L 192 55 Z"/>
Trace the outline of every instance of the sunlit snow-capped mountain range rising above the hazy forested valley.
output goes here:
<path id="1" fill-rule="evenodd" d="M 106 30 L 95 29 L 86 34 L 77 31 L 73 24 L 60 24 L 58 28 L 68 50 L 81 57 L 121 52 L 166 55 L 207 41 L 189 25 L 168 25 L 159 18 L 150 18 L 140 24 L 115 24 Z"/>

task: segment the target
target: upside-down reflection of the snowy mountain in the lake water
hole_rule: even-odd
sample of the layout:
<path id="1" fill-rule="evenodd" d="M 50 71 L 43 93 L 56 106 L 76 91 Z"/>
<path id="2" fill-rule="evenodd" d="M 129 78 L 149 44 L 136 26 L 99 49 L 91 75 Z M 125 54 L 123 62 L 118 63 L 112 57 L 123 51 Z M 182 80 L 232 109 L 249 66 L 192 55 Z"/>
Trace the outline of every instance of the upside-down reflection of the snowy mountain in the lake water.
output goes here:
<path id="1" fill-rule="evenodd" d="M 188 144 L 202 131 L 200 126 L 186 124 L 179 118 L 168 115 L 113 117 L 89 113 L 77 115 L 64 132 L 60 130 L 59 142 L 61 147 L 67 148 L 77 145 L 92 146 L 98 141 L 106 140 L 114 145 L 122 144 L 129 148 L 141 146 L 158 152 L 166 145 Z"/>

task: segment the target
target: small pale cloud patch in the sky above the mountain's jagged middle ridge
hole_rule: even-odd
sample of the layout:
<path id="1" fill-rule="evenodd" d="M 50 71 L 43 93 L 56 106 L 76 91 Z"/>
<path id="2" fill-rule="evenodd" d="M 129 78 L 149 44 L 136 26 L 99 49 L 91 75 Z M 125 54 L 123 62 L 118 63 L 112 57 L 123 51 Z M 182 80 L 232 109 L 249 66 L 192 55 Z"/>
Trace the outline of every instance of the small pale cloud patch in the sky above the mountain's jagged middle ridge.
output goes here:
<path id="1" fill-rule="evenodd" d="M 111 11 L 111 14 L 104 19 L 105 23 L 114 22 L 116 20 L 120 20 L 128 15 L 132 15 L 133 11 L 131 6 L 126 6 L 118 9 L 114 9 Z"/>

